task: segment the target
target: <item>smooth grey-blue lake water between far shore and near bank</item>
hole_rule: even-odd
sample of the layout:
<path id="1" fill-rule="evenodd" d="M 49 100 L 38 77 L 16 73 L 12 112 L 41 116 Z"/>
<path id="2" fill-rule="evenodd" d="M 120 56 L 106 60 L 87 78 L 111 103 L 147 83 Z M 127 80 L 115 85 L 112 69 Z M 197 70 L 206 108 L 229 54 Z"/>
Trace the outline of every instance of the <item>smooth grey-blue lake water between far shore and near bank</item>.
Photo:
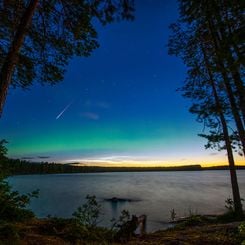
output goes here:
<path id="1" fill-rule="evenodd" d="M 237 171 L 241 197 L 245 198 L 245 171 Z M 70 217 L 87 194 L 102 205 L 101 225 L 109 226 L 123 209 L 146 214 L 147 230 L 163 229 L 174 208 L 177 217 L 189 213 L 217 214 L 232 197 L 229 171 L 116 172 L 86 174 L 19 175 L 8 178 L 21 193 L 40 189 L 30 208 L 38 217 Z M 107 198 L 133 202 L 111 203 Z"/>

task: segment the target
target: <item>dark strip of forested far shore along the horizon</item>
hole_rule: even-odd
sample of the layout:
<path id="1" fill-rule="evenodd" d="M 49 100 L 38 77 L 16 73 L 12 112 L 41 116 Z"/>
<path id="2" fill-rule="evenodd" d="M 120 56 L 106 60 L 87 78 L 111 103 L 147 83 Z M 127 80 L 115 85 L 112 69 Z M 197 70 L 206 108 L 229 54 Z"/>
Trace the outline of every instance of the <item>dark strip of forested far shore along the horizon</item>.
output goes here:
<path id="1" fill-rule="evenodd" d="M 101 173 L 101 172 L 153 172 L 153 171 L 203 171 L 228 170 L 228 166 L 202 167 L 201 165 L 171 166 L 171 167 L 103 167 L 76 166 L 77 163 L 61 164 L 48 162 L 30 162 L 20 159 L 5 159 L 0 162 L 0 173 L 4 175 L 24 174 L 61 174 L 61 173 Z M 245 169 L 245 166 L 237 166 Z"/>

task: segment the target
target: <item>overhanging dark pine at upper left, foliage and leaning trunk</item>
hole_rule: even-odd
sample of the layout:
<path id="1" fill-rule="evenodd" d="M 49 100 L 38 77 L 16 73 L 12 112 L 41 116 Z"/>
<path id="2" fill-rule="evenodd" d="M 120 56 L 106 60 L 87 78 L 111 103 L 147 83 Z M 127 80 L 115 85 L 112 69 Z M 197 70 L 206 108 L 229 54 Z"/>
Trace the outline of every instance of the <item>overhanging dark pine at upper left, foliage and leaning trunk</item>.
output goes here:
<path id="1" fill-rule="evenodd" d="M 89 56 L 95 19 L 132 19 L 133 10 L 133 0 L 0 1 L 0 113 L 10 85 L 57 83 L 72 56 Z"/>

